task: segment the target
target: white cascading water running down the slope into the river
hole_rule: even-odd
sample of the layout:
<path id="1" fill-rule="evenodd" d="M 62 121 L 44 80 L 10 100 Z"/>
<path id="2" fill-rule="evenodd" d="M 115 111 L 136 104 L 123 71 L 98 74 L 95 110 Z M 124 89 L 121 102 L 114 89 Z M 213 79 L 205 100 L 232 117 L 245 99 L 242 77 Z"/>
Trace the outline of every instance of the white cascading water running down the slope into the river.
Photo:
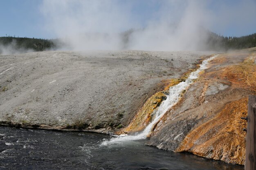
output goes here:
<path id="1" fill-rule="evenodd" d="M 154 112 L 154 119 L 153 121 L 148 124 L 148 126 L 141 132 L 137 132 L 134 135 L 119 135 L 115 138 L 112 138 L 108 141 L 103 141 L 102 145 L 117 143 L 119 141 L 131 141 L 131 140 L 139 140 L 139 139 L 146 139 L 147 135 L 150 133 L 152 127 L 161 119 L 161 117 L 167 112 L 169 108 L 174 106 L 180 99 L 182 91 L 186 90 L 186 88 L 193 83 L 193 79 L 197 79 L 198 75 L 201 71 L 207 68 L 207 64 L 210 60 L 215 58 L 215 56 L 210 57 L 200 64 L 200 68 L 196 71 L 190 73 L 189 77 L 184 82 L 180 82 L 175 86 L 171 86 L 169 88 L 169 95 L 167 95 L 166 100 L 164 100 L 159 107 L 157 107 Z"/>

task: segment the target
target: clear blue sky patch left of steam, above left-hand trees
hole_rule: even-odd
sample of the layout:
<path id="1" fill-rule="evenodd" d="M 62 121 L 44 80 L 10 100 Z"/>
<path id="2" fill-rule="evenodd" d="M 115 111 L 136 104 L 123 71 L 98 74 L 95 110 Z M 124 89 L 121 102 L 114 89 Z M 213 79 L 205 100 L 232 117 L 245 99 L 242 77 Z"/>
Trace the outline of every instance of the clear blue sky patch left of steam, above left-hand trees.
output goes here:
<path id="1" fill-rule="evenodd" d="M 40 0 L 1 0 L 0 36 L 43 38 L 42 15 L 38 11 L 40 3 Z"/>

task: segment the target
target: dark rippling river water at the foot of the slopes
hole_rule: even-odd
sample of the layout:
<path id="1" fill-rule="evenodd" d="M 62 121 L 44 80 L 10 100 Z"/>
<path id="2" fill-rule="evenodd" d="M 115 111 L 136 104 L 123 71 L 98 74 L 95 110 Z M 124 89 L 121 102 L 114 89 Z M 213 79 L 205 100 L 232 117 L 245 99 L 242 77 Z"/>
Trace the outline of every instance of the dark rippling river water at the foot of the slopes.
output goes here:
<path id="1" fill-rule="evenodd" d="M 243 166 L 146 146 L 101 145 L 112 136 L 0 126 L 0 170 L 243 170 Z"/>

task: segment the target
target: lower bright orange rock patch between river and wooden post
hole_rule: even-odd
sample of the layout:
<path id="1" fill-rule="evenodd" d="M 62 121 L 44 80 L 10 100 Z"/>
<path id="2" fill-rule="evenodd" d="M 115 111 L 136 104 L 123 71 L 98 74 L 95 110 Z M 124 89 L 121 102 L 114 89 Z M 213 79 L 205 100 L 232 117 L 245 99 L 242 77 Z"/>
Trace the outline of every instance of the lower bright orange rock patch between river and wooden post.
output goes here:
<path id="1" fill-rule="evenodd" d="M 247 98 L 226 104 L 216 117 L 193 129 L 176 152 L 191 152 L 227 163 L 245 163 Z"/>

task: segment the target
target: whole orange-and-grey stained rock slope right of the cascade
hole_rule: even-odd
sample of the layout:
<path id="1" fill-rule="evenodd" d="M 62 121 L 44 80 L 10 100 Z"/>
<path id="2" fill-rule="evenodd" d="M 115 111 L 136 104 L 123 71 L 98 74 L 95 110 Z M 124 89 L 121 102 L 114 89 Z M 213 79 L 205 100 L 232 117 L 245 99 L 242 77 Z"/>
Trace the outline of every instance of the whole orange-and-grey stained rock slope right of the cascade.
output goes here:
<path id="1" fill-rule="evenodd" d="M 245 163 L 248 95 L 256 95 L 256 53 L 221 54 L 153 128 L 149 145 Z"/>

